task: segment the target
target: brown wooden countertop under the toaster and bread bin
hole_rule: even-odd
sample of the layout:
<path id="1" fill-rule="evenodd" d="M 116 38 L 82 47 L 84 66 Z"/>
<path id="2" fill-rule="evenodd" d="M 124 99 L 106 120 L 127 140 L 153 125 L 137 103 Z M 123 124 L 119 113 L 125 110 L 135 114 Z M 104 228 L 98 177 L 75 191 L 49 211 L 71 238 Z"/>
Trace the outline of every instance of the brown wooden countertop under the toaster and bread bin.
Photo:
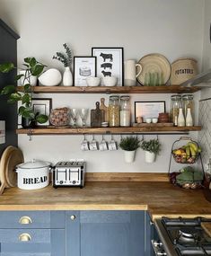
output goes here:
<path id="1" fill-rule="evenodd" d="M 149 210 L 159 216 L 211 217 L 202 190 L 184 190 L 169 182 L 94 182 L 84 189 L 48 186 L 41 190 L 4 190 L 0 210 Z"/>

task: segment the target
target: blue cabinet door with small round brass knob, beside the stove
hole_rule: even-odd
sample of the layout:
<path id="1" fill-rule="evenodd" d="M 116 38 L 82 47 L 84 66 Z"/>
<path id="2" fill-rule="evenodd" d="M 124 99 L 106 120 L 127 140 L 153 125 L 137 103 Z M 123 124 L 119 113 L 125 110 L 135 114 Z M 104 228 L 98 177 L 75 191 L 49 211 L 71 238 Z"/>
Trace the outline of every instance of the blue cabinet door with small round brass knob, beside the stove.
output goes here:
<path id="1" fill-rule="evenodd" d="M 148 256 L 145 211 L 67 211 L 66 255 Z"/>

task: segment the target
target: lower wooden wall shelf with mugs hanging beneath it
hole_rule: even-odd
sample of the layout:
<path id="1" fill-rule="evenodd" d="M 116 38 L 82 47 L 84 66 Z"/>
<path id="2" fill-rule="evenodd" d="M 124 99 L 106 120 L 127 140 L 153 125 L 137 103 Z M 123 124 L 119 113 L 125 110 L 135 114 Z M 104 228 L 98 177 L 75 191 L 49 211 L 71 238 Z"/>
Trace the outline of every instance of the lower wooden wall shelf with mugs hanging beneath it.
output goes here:
<path id="1" fill-rule="evenodd" d="M 18 128 L 17 134 L 27 135 L 81 135 L 81 134 L 138 134 L 156 132 L 189 132 L 199 131 L 200 126 L 195 127 L 130 127 L 130 128 Z"/>

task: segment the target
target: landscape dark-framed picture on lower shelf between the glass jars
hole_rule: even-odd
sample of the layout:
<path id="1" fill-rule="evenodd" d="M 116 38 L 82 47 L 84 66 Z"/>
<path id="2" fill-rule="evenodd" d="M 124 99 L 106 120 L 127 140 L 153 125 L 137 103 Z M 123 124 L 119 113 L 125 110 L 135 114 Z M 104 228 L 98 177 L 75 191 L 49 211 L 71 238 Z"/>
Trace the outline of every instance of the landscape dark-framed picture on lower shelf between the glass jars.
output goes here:
<path id="1" fill-rule="evenodd" d="M 165 102 L 135 102 L 135 122 L 137 117 L 158 118 L 159 113 L 165 112 Z"/>

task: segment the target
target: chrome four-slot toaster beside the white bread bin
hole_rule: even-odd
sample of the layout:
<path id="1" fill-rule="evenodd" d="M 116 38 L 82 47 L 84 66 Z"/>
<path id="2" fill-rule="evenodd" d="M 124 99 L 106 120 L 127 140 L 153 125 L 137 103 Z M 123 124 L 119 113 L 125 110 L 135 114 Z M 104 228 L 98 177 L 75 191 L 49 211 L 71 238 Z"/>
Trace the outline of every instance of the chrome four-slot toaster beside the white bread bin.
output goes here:
<path id="1" fill-rule="evenodd" d="M 58 162 L 53 168 L 53 187 L 84 187 L 86 163 L 84 160 Z"/>

